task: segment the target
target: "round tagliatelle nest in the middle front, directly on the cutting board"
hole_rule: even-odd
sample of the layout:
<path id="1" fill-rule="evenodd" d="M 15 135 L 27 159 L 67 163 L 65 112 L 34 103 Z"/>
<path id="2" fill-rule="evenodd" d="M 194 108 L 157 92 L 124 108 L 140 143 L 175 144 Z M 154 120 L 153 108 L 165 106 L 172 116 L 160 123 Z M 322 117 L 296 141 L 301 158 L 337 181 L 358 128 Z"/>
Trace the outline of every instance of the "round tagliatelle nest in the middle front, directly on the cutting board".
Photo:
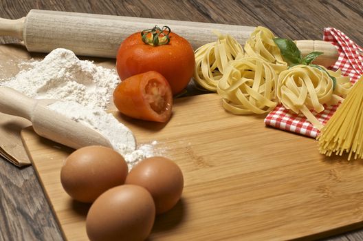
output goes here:
<path id="1" fill-rule="evenodd" d="M 223 107 L 233 114 L 264 114 L 276 106 L 274 68 L 261 58 L 230 61 L 217 85 Z"/>

